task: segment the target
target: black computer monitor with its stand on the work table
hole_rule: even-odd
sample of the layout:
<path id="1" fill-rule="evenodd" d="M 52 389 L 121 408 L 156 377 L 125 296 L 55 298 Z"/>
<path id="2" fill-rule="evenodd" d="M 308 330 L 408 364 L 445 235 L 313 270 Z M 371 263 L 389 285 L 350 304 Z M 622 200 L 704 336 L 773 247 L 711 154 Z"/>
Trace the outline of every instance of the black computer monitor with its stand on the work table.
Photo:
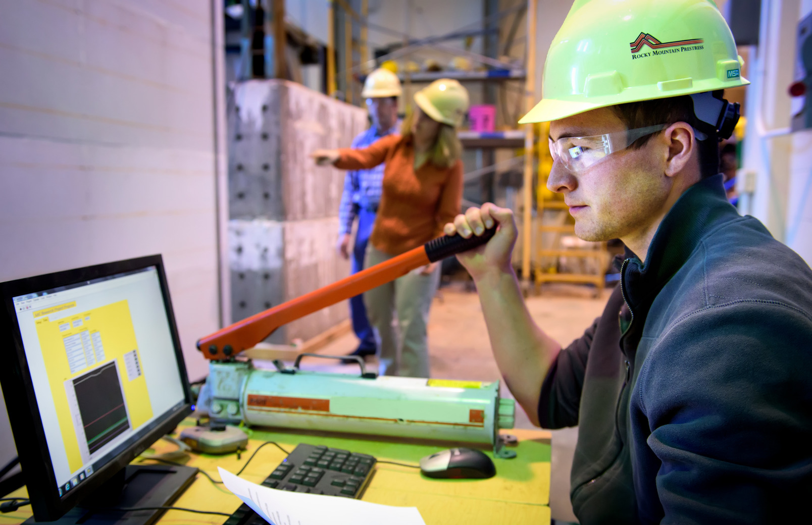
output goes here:
<path id="1" fill-rule="evenodd" d="M 161 256 L 3 282 L 0 298 L 0 384 L 34 519 L 172 501 L 197 469 L 125 470 L 192 413 Z"/>

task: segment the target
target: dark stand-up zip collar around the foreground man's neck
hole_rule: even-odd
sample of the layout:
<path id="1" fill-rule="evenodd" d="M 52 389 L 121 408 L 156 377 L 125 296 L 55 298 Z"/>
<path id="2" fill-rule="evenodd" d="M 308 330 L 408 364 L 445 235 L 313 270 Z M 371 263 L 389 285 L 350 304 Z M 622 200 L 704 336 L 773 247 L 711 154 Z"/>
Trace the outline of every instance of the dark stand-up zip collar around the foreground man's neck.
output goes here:
<path id="1" fill-rule="evenodd" d="M 627 249 L 621 286 L 635 314 L 636 308 L 650 307 L 711 230 L 739 217 L 728 203 L 722 181 L 721 174 L 702 179 L 680 196 L 654 233 L 645 264 Z"/>

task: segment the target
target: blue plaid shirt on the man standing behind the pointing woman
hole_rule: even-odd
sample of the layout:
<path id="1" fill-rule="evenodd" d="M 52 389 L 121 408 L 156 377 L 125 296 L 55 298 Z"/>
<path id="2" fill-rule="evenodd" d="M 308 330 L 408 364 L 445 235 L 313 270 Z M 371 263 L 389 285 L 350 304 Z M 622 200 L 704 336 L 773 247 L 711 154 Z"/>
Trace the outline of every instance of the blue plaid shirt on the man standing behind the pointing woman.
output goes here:
<path id="1" fill-rule="evenodd" d="M 361 132 L 352 140 L 352 148 L 360 149 L 372 145 L 381 137 L 396 133 L 400 127 L 400 120 L 388 131 L 378 133 L 374 127 Z M 377 209 L 381 200 L 381 187 L 383 183 L 383 163 L 370 170 L 348 171 L 344 178 L 344 191 L 339 206 L 339 235 L 352 231 L 352 222 L 358 215 L 358 210 Z"/>

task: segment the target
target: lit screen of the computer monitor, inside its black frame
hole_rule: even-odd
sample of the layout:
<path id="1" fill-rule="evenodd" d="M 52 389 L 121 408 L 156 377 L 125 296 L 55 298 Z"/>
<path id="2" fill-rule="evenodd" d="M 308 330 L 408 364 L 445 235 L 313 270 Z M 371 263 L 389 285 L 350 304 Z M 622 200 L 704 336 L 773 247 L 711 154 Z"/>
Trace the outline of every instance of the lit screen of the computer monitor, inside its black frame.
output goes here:
<path id="1" fill-rule="evenodd" d="M 162 269 L 101 273 L 11 297 L 60 497 L 188 405 Z"/>

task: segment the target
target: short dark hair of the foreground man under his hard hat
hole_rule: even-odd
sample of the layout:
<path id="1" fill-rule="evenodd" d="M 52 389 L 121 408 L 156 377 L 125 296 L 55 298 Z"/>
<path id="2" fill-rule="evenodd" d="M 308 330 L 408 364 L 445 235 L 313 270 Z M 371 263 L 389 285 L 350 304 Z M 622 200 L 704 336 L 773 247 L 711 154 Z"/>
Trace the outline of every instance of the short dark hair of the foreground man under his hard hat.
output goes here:
<path id="1" fill-rule="evenodd" d="M 707 136 L 706 140 L 697 140 L 700 175 L 704 179 L 719 173 L 719 137 L 715 129 L 701 122 L 693 113 L 693 99 L 689 95 L 627 102 L 612 105 L 610 109 L 628 129 L 678 122 L 689 123 L 694 130 L 702 131 Z M 642 148 L 650 138 L 651 135 L 640 137 L 630 147 Z"/>

